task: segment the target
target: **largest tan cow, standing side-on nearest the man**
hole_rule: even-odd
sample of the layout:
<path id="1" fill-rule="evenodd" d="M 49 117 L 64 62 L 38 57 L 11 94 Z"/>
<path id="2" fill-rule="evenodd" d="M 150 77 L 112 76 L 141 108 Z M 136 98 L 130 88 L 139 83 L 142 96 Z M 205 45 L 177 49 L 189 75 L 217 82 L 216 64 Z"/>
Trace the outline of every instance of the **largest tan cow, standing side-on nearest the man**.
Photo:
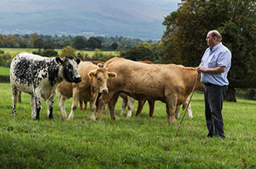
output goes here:
<path id="1" fill-rule="evenodd" d="M 182 68 L 173 64 L 145 64 L 128 59 L 110 59 L 104 65 L 117 77 L 108 82 L 109 93 L 99 97 L 97 120 L 109 103 L 111 119 L 115 120 L 114 106 L 120 92 L 138 101 L 163 101 L 167 106 L 167 122 L 176 123 L 176 106 L 186 102 L 196 80 L 196 68 Z M 200 85 L 200 78 L 196 83 Z"/>

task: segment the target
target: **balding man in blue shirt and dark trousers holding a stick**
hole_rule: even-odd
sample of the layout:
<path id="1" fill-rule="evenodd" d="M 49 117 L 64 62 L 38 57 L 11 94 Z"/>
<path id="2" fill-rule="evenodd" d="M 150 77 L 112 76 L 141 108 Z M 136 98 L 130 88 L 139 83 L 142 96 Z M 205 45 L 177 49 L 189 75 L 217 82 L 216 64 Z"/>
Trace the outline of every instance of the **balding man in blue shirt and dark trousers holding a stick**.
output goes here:
<path id="1" fill-rule="evenodd" d="M 218 31 L 208 32 L 208 49 L 201 59 L 197 73 L 202 73 L 201 82 L 205 84 L 205 119 L 209 131 L 207 137 L 225 138 L 222 119 L 222 104 L 229 85 L 227 75 L 231 67 L 232 54 Z"/>

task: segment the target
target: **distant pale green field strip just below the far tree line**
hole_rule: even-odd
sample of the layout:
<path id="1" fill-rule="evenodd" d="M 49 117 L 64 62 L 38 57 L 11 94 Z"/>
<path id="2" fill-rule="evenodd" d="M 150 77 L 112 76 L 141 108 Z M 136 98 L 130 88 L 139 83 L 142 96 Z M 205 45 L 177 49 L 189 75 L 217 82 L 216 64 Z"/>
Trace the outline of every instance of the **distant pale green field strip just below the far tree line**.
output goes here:
<path id="1" fill-rule="evenodd" d="M 26 49 L 26 48 L 0 48 L 0 50 L 4 51 L 5 53 L 9 54 L 16 54 L 17 52 L 27 52 L 27 53 L 32 53 L 32 51 L 37 51 L 38 49 Z M 59 54 L 61 53 L 62 49 L 55 49 Z M 83 52 L 84 54 L 89 54 L 89 56 L 92 56 L 94 54 L 94 51 L 89 51 L 89 50 L 76 50 L 77 53 Z M 119 55 L 118 51 L 104 51 L 104 54 L 114 54 Z"/>

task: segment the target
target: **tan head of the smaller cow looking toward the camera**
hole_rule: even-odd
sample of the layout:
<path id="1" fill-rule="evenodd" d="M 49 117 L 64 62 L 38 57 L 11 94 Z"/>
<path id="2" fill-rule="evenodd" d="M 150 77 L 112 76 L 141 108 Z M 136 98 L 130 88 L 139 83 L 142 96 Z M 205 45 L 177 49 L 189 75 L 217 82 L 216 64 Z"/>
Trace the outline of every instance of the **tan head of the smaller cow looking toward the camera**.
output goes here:
<path id="1" fill-rule="evenodd" d="M 109 89 L 107 87 L 107 82 L 109 78 L 114 78 L 117 76 L 116 73 L 108 72 L 106 68 L 97 68 L 88 73 L 88 76 L 93 80 L 93 86 L 100 93 L 108 93 Z"/>

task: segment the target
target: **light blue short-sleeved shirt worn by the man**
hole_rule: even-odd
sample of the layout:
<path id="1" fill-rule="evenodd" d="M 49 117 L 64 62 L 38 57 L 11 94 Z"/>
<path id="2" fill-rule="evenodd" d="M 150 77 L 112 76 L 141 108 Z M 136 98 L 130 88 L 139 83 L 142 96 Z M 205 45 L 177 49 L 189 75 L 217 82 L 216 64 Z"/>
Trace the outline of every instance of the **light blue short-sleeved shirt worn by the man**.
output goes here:
<path id="1" fill-rule="evenodd" d="M 225 73 L 213 74 L 213 73 L 202 73 L 201 82 L 202 83 L 212 83 L 218 86 L 229 85 L 228 73 L 231 67 L 232 54 L 230 50 L 225 47 L 225 45 L 220 44 L 215 45 L 215 47 L 210 51 L 210 48 L 205 50 L 205 54 L 201 59 L 201 64 L 205 68 L 216 68 L 220 66 L 225 66 L 227 69 Z"/>

